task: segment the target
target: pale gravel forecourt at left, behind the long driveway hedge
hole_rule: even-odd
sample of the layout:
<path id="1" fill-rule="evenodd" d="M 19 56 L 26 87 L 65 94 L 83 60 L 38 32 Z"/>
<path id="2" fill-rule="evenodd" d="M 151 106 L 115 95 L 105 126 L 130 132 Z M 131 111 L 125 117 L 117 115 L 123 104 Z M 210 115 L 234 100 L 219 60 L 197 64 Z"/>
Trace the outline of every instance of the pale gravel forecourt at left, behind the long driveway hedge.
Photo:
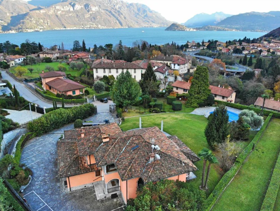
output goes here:
<path id="1" fill-rule="evenodd" d="M 9 115 L 6 116 L 6 118 L 9 118 L 14 122 L 18 122 L 19 124 L 23 124 L 25 122 L 31 121 L 31 115 L 29 110 L 22 110 L 22 111 L 10 110 L 10 109 L 3 109 L 3 110 L 8 111 L 8 113 L 10 113 Z M 36 113 L 35 111 L 31 111 L 31 113 L 32 113 L 33 120 L 43 115 L 41 113 Z"/>

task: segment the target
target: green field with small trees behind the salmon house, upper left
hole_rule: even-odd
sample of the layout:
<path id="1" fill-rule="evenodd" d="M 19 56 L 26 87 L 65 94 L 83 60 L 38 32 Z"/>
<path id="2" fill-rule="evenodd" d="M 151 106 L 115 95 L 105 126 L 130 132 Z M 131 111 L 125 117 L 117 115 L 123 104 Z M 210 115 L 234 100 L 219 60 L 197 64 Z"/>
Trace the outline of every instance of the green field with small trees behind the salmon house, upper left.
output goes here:
<path id="1" fill-rule="evenodd" d="M 55 69 L 55 71 L 58 71 L 57 66 L 60 65 L 59 62 L 52 62 L 52 63 L 40 63 L 36 64 L 36 65 L 26 65 L 24 66 L 26 69 L 28 68 L 33 68 L 34 70 L 32 71 L 32 74 L 30 73 L 30 71 L 27 71 L 27 73 L 25 73 L 22 78 L 39 78 L 39 74 L 42 73 L 42 70 L 45 70 L 46 66 L 50 66 L 53 67 Z M 69 68 L 69 65 L 67 65 L 66 63 L 61 63 L 62 66 L 66 67 L 66 74 L 71 74 L 72 76 L 79 76 L 80 75 L 80 71 L 77 70 L 72 70 Z M 13 74 L 15 74 L 15 72 L 11 71 Z"/>

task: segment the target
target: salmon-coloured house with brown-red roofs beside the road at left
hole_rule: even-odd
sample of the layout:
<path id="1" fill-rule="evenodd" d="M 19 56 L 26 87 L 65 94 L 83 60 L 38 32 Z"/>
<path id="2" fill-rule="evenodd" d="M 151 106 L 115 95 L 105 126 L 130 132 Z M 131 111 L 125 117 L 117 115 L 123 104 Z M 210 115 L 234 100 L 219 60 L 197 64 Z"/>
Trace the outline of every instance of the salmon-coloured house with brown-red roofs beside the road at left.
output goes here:
<path id="1" fill-rule="evenodd" d="M 50 72 L 44 72 L 42 71 L 41 74 L 39 74 L 42 78 L 42 87 L 43 89 L 49 90 L 55 94 L 64 94 L 64 95 L 79 95 L 80 89 L 83 89 L 85 86 L 70 80 L 64 78 L 66 76 L 65 72 L 61 71 L 50 71 Z"/>

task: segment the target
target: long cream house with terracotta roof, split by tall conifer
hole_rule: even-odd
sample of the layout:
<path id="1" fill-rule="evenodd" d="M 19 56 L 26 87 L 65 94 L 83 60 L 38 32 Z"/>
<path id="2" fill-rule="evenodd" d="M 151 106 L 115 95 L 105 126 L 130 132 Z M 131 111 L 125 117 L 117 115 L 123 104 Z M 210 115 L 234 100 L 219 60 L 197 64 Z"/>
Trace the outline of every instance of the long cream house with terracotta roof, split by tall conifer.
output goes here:
<path id="1" fill-rule="evenodd" d="M 173 86 L 173 91 L 182 94 L 189 92 L 191 83 L 189 81 L 185 82 L 177 80 L 171 86 Z M 225 88 L 224 86 L 221 87 L 220 85 L 218 87 L 209 85 L 209 89 L 214 95 L 215 100 L 234 103 L 236 93 L 231 87 Z"/>

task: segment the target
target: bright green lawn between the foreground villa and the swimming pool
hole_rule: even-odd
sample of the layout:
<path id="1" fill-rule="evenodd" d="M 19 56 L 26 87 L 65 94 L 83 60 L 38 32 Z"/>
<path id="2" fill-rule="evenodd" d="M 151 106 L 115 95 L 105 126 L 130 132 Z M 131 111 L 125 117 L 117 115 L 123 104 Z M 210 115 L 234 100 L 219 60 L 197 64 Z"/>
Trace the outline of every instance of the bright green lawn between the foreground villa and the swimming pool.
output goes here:
<path id="1" fill-rule="evenodd" d="M 187 113 L 160 113 L 142 116 L 141 120 L 142 127 L 158 126 L 158 128 L 160 128 L 161 120 L 163 120 L 163 130 L 171 135 L 178 136 L 195 153 L 198 153 L 198 151 L 200 151 L 203 147 L 209 148 L 204 135 L 204 129 L 207 125 L 207 119 L 204 116 Z M 139 117 L 125 119 L 120 127 L 124 131 L 138 128 Z M 199 188 L 199 185 L 201 184 L 201 170 L 203 162 L 195 162 L 195 165 L 199 169 L 194 172 L 197 178 L 189 182 L 193 183 L 197 188 Z M 220 179 L 221 171 L 218 166 L 214 166 L 214 168 L 212 168 L 210 171 L 208 182 L 209 189 L 206 192 L 207 196 L 213 191 Z"/>

